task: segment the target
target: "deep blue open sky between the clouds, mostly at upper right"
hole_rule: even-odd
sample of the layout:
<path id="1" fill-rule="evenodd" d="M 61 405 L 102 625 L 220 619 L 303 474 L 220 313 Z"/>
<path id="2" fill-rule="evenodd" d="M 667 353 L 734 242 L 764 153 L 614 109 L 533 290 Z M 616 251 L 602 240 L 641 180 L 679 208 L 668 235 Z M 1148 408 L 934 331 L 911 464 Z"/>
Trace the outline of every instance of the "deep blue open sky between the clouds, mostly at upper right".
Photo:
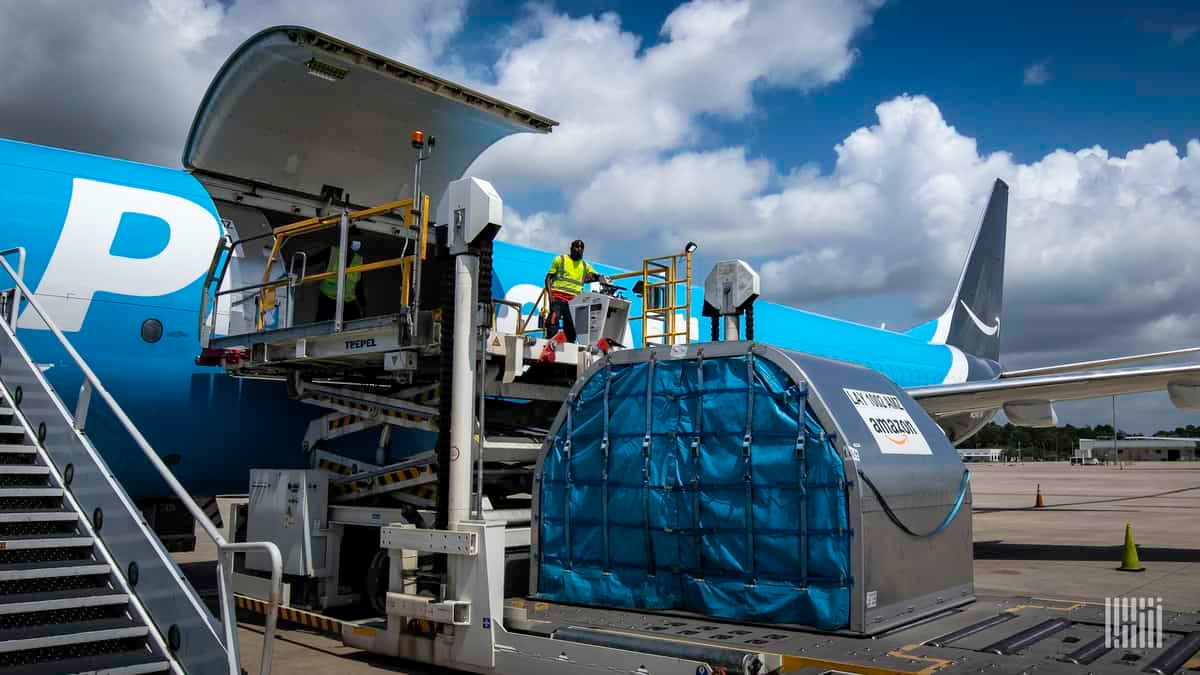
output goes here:
<path id="1" fill-rule="evenodd" d="M 559 1 L 571 16 L 614 12 L 642 48 L 660 40 L 665 1 Z M 482 0 L 470 6 L 455 49 L 468 61 L 494 60 L 497 34 L 518 25 L 528 4 Z M 853 41 L 858 60 L 841 82 L 810 91 L 761 86 L 746 119 L 702 123 L 709 147 L 745 144 L 781 172 L 805 163 L 828 171 L 834 145 L 875 123 L 875 106 L 923 94 L 946 119 L 1018 162 L 1102 145 L 1121 154 L 1150 139 L 1182 147 L 1200 138 L 1200 5 L 1195 2 L 1033 2 L 1003 6 L 906 0 L 884 5 Z M 1050 79 L 1026 83 L 1044 65 Z M 526 197 L 526 196 L 522 196 Z M 556 195 L 532 191 L 526 210 L 556 208 Z"/>

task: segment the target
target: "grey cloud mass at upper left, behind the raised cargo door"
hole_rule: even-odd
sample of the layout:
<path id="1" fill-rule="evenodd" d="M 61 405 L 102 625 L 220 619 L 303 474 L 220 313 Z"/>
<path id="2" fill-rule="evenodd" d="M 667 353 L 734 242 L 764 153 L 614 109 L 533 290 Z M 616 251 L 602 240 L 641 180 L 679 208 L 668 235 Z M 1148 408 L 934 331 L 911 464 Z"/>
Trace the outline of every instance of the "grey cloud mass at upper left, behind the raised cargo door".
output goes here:
<path id="1" fill-rule="evenodd" d="M 353 12 L 319 0 L 16 2 L 0 22 L 0 133 L 178 166 L 204 90 L 250 35 L 311 25 L 433 67 L 464 11 L 466 0 L 360 2 Z"/>

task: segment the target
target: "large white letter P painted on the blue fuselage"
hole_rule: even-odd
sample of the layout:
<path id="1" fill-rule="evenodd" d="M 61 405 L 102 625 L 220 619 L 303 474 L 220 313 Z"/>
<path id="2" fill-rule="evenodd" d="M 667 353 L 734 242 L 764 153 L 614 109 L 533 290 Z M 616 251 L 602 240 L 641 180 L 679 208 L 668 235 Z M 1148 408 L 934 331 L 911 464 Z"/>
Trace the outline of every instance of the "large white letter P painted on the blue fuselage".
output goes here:
<path id="1" fill-rule="evenodd" d="M 125 214 L 166 222 L 163 250 L 145 258 L 112 255 Z M 186 288 L 208 269 L 218 238 L 212 214 L 191 199 L 77 178 L 62 233 L 35 295 L 64 333 L 78 331 L 96 292 L 145 298 Z M 29 307 L 18 325 L 46 329 Z"/>

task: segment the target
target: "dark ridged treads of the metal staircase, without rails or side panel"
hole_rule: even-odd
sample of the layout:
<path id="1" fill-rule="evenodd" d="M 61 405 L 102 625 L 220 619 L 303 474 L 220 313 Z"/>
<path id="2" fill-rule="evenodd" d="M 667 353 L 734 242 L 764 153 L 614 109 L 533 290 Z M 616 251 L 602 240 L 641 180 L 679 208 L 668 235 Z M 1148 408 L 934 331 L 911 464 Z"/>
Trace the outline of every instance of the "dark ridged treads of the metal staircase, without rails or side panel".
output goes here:
<path id="1" fill-rule="evenodd" d="M 5 399 L 0 674 L 170 670 L 122 580 L 97 551 L 91 524 L 66 500 L 62 482 Z"/>

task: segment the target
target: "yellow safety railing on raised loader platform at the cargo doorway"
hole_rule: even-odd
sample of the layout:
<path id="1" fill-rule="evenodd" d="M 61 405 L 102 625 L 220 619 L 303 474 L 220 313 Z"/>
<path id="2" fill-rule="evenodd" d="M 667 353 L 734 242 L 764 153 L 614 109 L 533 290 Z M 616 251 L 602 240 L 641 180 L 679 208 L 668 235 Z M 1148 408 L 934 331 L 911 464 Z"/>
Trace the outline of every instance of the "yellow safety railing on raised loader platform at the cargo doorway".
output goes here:
<path id="1" fill-rule="evenodd" d="M 421 198 L 420 210 L 413 209 L 413 199 L 401 199 L 398 202 L 388 202 L 386 204 L 379 204 L 378 207 L 371 207 L 368 209 L 361 209 L 358 211 L 350 211 L 344 214 L 346 219 L 350 222 L 356 220 L 364 220 L 372 216 L 384 215 L 392 211 L 402 211 L 404 227 L 410 229 L 416 229 L 418 235 L 418 253 L 412 256 L 403 256 L 398 258 L 388 258 L 383 261 L 374 261 L 370 263 L 347 265 L 346 273 L 367 273 L 379 269 L 388 269 L 394 267 L 403 267 L 402 270 L 402 285 L 401 285 L 401 301 L 404 305 L 410 304 L 412 298 L 412 286 L 413 286 L 413 268 L 415 264 L 415 256 L 420 255 L 421 259 L 426 258 L 428 232 L 430 232 L 430 196 L 425 195 Z M 416 221 L 416 216 L 420 214 L 420 221 Z M 313 232 L 319 232 L 322 229 L 328 229 L 331 227 L 337 227 L 342 222 L 342 214 L 332 214 L 328 216 L 311 217 L 301 220 L 298 222 L 282 225 L 276 227 L 272 232 L 274 243 L 271 244 L 271 253 L 266 258 L 266 268 L 263 270 L 263 283 L 259 285 L 260 301 L 258 303 L 258 316 L 256 319 L 256 325 L 258 330 L 263 329 L 263 316 L 275 307 L 276 303 L 276 291 L 283 286 L 300 286 L 304 283 L 319 283 L 326 279 L 337 279 L 337 270 L 323 271 L 319 274 L 304 274 L 299 280 L 293 280 L 290 275 L 284 279 L 271 281 L 271 267 L 275 263 L 275 258 L 278 256 L 280 250 L 287 243 L 288 239 L 293 237 L 300 237 L 302 234 L 311 234 Z"/>

